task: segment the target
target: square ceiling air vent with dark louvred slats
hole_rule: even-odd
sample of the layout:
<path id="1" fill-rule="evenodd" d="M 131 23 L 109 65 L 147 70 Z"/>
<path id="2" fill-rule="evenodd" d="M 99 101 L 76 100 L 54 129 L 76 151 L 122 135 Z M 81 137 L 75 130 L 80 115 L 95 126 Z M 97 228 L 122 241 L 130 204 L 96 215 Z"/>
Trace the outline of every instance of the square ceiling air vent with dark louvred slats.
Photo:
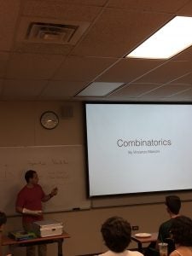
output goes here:
<path id="1" fill-rule="evenodd" d="M 26 40 L 45 44 L 76 44 L 88 26 L 88 23 L 53 24 L 32 22 L 28 26 Z"/>

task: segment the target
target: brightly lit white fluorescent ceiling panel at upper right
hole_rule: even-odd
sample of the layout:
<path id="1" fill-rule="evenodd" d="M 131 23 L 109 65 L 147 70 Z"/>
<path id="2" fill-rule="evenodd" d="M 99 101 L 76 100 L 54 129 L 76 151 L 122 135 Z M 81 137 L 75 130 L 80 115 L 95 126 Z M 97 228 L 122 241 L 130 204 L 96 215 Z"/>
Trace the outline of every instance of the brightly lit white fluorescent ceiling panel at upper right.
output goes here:
<path id="1" fill-rule="evenodd" d="M 126 57 L 168 59 L 192 45 L 192 17 L 176 16 Z"/>

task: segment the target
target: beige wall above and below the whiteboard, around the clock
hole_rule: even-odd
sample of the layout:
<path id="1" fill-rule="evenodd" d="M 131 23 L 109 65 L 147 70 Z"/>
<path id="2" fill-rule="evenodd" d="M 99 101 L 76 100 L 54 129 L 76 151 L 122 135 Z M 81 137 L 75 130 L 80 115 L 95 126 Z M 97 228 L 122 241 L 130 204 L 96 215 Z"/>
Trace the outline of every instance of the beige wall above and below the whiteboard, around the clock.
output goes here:
<path id="1" fill-rule="evenodd" d="M 60 119 L 60 124 L 55 130 L 45 130 L 39 122 L 41 114 L 44 111 L 53 110 L 61 116 L 61 107 L 65 104 L 73 107 L 73 118 Z M 1 147 L 84 144 L 81 102 L 0 102 L 0 116 Z M 189 211 L 191 208 L 192 202 L 183 203 L 182 213 L 192 217 Z M 65 241 L 65 255 L 74 256 L 105 250 L 100 226 L 106 218 L 112 215 L 120 215 L 132 225 L 139 225 L 141 232 L 157 231 L 159 224 L 168 218 L 163 204 L 47 213 L 45 218 L 55 218 L 64 223 L 65 230 L 71 235 L 71 238 Z M 4 232 L 20 228 L 20 216 L 10 217 Z M 136 245 L 131 243 L 131 247 L 136 247 Z M 7 249 L 4 248 L 4 250 Z M 15 249 L 15 255 L 25 255 L 24 248 Z M 56 255 L 55 244 L 49 245 L 48 256 L 52 255 Z"/>

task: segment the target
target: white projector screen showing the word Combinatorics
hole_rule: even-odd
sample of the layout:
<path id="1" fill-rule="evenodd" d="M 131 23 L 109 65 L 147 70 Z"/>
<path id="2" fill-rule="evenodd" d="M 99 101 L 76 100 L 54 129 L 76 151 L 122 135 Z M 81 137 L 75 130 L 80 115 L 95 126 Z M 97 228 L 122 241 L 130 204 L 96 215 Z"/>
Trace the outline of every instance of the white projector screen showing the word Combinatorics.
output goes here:
<path id="1" fill-rule="evenodd" d="M 192 189 L 192 105 L 85 103 L 89 194 Z"/>

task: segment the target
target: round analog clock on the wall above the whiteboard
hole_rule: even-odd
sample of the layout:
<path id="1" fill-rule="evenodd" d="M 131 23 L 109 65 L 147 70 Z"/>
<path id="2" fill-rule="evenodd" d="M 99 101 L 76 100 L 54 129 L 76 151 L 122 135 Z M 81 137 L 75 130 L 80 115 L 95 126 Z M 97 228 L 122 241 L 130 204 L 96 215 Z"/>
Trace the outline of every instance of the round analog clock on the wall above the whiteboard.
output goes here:
<path id="1" fill-rule="evenodd" d="M 59 117 L 53 111 L 46 111 L 42 113 L 40 122 L 45 129 L 54 129 L 59 124 Z"/>

